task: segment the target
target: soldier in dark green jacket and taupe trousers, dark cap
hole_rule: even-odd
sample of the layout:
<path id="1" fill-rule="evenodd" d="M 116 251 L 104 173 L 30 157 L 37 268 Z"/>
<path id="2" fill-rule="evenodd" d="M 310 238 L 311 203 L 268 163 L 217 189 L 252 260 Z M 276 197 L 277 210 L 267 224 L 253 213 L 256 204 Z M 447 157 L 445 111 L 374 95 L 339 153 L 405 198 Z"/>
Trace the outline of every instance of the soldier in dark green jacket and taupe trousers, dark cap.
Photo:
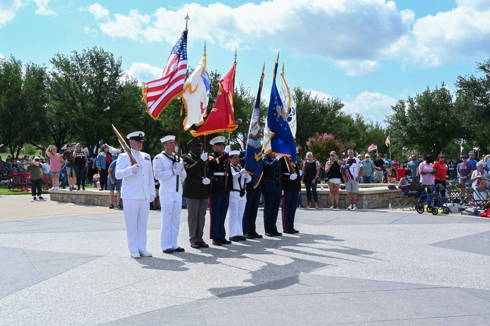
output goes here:
<path id="1" fill-rule="evenodd" d="M 209 207 L 209 183 L 205 177 L 207 152 L 202 153 L 203 141 L 201 137 L 191 139 L 187 146 L 188 154 L 182 155 L 184 170 L 187 177 L 182 186 L 182 195 L 187 201 L 187 225 L 189 226 L 189 242 L 191 248 L 208 248 L 204 242 L 204 226 L 206 224 L 206 210 Z"/>

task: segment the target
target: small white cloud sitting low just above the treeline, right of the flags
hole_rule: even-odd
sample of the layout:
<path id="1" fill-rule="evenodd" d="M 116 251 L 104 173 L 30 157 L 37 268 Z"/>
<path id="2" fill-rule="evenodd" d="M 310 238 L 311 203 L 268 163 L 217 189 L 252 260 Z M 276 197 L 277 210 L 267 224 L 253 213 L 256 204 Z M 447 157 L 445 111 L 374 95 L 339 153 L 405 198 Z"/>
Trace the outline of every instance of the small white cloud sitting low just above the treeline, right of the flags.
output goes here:
<path id="1" fill-rule="evenodd" d="M 342 109 L 352 115 L 362 113 L 365 118 L 384 125 L 383 120 L 392 113 L 391 105 L 395 105 L 396 102 L 396 99 L 384 94 L 362 92 L 354 100 L 344 102 L 345 106 Z"/>

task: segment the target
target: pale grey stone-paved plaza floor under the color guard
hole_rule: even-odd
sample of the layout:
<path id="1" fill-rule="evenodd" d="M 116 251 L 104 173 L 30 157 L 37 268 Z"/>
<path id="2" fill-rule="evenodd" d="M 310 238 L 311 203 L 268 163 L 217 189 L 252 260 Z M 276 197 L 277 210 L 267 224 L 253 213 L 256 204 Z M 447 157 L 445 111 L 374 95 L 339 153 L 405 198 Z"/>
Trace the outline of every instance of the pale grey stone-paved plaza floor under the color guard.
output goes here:
<path id="1" fill-rule="evenodd" d="M 168 255 L 152 211 L 154 257 L 131 259 L 121 211 L 19 197 L 0 198 L 18 217 L 0 223 L 0 325 L 489 324 L 490 219 L 301 209 L 299 234 L 195 250 L 183 210 Z"/>

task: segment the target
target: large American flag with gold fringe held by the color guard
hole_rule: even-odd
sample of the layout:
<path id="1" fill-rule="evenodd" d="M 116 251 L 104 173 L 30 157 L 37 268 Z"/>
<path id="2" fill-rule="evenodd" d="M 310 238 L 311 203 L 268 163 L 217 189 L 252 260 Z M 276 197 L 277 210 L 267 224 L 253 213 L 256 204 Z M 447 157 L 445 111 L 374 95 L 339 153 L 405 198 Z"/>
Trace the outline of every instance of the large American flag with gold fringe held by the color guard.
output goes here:
<path id="1" fill-rule="evenodd" d="M 163 109 L 182 94 L 186 71 L 187 30 L 184 30 L 172 48 L 162 77 L 143 83 L 143 101 L 146 102 L 147 112 L 153 119 L 157 120 Z"/>

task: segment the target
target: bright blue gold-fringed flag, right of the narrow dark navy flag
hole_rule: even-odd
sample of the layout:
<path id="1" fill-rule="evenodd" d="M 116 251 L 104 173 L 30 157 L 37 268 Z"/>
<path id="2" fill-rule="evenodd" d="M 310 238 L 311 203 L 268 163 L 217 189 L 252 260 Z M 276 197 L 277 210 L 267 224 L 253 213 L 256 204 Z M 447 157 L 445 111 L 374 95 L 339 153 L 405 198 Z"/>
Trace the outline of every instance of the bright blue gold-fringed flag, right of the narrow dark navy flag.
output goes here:
<path id="1" fill-rule="evenodd" d="M 289 156 L 291 157 L 291 162 L 296 164 L 296 142 L 289 124 L 283 118 L 285 116 L 283 102 L 276 86 L 277 66 L 278 63 L 276 62 L 269 110 L 267 111 L 267 121 L 264 129 L 264 153 L 267 154 L 272 151 L 274 154 Z"/>

